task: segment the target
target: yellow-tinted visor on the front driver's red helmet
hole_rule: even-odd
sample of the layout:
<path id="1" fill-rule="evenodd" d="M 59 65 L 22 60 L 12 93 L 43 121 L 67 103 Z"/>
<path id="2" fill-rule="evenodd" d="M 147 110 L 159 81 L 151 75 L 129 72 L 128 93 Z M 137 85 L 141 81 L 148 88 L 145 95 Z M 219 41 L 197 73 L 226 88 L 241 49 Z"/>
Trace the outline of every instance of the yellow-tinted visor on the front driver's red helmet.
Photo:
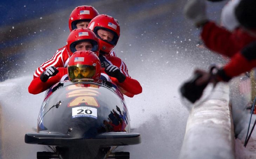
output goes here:
<path id="1" fill-rule="evenodd" d="M 95 75 L 96 67 L 77 64 L 68 67 L 69 79 L 72 82 L 88 81 Z"/>

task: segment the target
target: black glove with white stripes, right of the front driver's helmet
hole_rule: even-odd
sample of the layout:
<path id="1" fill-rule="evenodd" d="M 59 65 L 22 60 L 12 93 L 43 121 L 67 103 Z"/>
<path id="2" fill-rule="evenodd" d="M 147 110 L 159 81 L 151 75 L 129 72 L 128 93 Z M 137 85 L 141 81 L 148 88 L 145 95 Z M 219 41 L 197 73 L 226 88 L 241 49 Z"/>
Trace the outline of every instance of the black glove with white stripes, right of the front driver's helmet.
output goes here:
<path id="1" fill-rule="evenodd" d="M 114 65 L 109 65 L 107 62 L 102 62 L 101 66 L 105 67 L 105 72 L 111 77 L 115 77 L 118 82 L 122 83 L 126 76 L 121 73 L 120 69 Z"/>

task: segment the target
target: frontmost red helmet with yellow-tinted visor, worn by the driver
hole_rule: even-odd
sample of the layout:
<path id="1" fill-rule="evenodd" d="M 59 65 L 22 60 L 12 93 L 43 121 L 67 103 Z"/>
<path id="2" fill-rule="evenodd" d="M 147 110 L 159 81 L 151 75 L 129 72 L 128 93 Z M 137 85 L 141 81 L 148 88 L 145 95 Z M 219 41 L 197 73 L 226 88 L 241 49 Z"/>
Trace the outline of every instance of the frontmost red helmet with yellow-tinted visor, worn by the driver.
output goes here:
<path id="1" fill-rule="evenodd" d="M 70 56 L 67 67 L 68 78 L 71 82 L 100 79 L 100 60 L 92 51 L 76 51 Z"/>

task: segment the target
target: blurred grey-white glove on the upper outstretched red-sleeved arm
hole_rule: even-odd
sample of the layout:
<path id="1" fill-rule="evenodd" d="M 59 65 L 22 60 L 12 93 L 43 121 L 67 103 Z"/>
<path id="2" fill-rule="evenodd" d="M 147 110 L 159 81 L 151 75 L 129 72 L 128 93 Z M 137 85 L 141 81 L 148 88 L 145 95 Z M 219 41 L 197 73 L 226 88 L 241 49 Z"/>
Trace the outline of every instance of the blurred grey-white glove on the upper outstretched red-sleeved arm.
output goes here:
<path id="1" fill-rule="evenodd" d="M 205 0 L 189 0 L 186 3 L 183 12 L 187 18 L 194 22 L 196 27 L 201 27 L 208 22 Z"/>

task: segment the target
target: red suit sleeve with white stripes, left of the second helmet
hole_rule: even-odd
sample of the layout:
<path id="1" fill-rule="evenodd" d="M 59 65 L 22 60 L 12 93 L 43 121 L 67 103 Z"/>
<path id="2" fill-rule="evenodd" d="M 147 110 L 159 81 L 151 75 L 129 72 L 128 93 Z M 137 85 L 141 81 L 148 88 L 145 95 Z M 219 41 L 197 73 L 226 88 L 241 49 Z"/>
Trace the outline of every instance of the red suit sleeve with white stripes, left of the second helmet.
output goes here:
<path id="1" fill-rule="evenodd" d="M 116 53 L 112 50 L 110 52 L 110 55 L 116 56 Z M 34 73 L 34 78 L 39 77 L 40 74 L 50 66 L 54 66 L 56 68 L 67 67 L 68 61 L 69 61 L 69 56 L 68 56 L 67 48 L 66 46 L 63 46 L 55 52 L 52 58 L 50 58 L 46 62 L 43 62 L 38 68 L 36 68 Z"/>

